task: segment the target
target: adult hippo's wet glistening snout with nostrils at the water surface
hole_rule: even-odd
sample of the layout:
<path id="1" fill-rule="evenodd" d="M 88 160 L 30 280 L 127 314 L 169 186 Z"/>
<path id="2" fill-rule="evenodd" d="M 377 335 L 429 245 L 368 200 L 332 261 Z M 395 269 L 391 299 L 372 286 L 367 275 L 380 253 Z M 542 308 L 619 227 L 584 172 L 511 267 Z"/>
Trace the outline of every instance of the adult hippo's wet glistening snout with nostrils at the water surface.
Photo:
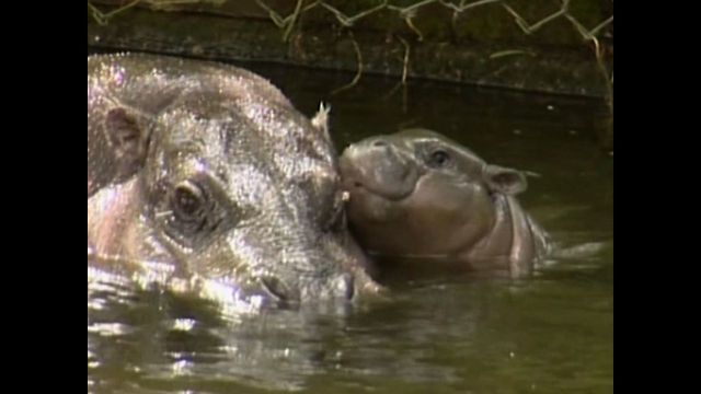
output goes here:
<path id="1" fill-rule="evenodd" d="M 333 232 L 309 236 L 300 228 L 280 224 L 265 233 L 256 227 L 232 230 L 227 245 L 211 247 L 225 251 L 218 258 L 203 256 L 209 265 L 205 271 L 212 277 L 218 267 L 233 267 L 222 271 L 223 280 L 246 294 L 261 293 L 286 304 L 310 299 L 352 300 L 372 291 L 375 283 L 360 269 L 366 264 L 359 258 L 361 252 L 349 248 L 353 240 L 340 243 Z"/>

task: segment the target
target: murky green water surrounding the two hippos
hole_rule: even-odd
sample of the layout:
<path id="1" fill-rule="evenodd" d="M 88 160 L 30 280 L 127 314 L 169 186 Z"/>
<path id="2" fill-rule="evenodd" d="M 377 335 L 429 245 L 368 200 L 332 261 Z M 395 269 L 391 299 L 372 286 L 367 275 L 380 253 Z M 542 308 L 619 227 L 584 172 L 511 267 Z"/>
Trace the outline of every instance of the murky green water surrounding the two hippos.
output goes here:
<path id="1" fill-rule="evenodd" d="M 540 174 L 521 196 L 560 257 L 527 280 L 384 275 L 392 299 L 223 315 L 128 283 L 89 291 L 94 393 L 610 393 L 612 160 L 597 147 L 602 103 L 257 67 L 306 114 L 332 105 L 350 141 L 424 126 L 493 163 Z"/>

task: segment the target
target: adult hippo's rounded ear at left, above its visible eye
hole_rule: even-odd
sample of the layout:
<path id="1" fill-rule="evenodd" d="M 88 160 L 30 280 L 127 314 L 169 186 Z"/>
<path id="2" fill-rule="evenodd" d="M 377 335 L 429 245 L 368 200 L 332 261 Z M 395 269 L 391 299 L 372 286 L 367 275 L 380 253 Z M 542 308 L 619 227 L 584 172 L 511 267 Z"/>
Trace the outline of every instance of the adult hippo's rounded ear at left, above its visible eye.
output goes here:
<path id="1" fill-rule="evenodd" d="M 110 109 L 104 130 L 116 159 L 116 176 L 125 178 L 137 172 L 146 161 L 148 127 L 145 117 L 125 107 Z"/>

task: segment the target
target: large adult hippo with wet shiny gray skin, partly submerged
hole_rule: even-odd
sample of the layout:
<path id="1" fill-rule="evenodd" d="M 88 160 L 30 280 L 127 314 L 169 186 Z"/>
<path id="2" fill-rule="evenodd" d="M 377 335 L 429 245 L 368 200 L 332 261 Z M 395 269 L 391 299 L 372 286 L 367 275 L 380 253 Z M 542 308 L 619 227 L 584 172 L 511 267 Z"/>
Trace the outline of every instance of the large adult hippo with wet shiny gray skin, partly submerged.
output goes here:
<path id="1" fill-rule="evenodd" d="M 231 66 L 89 57 L 89 267 L 286 303 L 377 292 L 326 115 Z"/>

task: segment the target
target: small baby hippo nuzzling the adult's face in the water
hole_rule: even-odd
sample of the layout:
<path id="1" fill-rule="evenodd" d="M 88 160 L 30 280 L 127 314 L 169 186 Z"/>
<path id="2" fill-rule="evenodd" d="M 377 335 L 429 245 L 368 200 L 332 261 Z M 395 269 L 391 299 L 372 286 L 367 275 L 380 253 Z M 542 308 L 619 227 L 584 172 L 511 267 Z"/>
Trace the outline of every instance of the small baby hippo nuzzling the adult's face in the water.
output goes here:
<path id="1" fill-rule="evenodd" d="M 350 228 L 374 254 L 519 277 L 548 252 L 545 233 L 515 197 L 527 188 L 525 175 L 435 131 L 371 137 L 348 147 L 340 163 Z"/>

